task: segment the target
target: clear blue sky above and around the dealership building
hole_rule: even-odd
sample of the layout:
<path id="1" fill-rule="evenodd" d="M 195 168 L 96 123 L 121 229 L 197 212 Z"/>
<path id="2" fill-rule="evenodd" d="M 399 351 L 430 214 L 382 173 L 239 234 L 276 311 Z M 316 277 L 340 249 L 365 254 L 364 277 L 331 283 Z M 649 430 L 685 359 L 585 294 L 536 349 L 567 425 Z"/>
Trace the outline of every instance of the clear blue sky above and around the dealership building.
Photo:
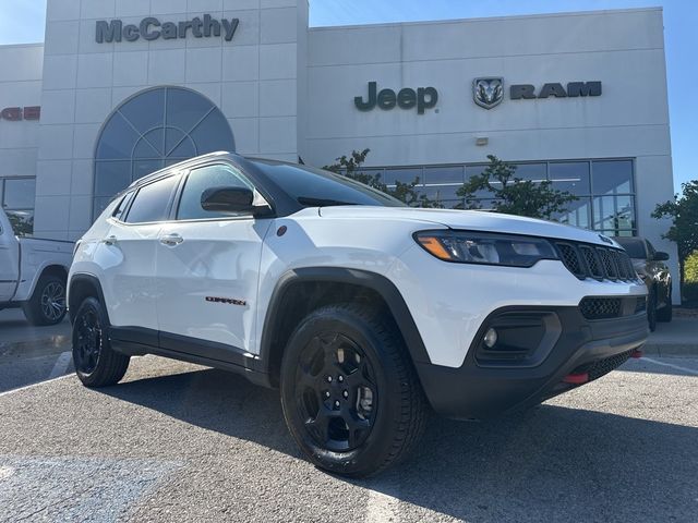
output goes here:
<path id="1" fill-rule="evenodd" d="M 50 1 L 50 0 L 49 0 Z M 119 0 L 117 0 L 119 1 Z M 147 0 L 144 0 L 147 1 Z M 507 16 L 661 5 L 676 191 L 698 179 L 698 0 L 310 0 L 310 25 Z M 44 40 L 46 0 L 0 0 L 0 45 Z"/>

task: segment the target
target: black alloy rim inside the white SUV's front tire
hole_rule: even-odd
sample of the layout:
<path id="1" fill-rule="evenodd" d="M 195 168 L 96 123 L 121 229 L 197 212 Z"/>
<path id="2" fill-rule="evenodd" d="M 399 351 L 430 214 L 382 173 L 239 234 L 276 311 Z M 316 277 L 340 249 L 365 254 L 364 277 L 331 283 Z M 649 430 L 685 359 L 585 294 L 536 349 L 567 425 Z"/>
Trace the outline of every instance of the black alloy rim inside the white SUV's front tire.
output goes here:
<path id="1" fill-rule="evenodd" d="M 375 374 L 347 336 L 323 332 L 301 353 L 296 402 L 314 441 L 328 450 L 353 450 L 366 440 L 378 409 Z"/>

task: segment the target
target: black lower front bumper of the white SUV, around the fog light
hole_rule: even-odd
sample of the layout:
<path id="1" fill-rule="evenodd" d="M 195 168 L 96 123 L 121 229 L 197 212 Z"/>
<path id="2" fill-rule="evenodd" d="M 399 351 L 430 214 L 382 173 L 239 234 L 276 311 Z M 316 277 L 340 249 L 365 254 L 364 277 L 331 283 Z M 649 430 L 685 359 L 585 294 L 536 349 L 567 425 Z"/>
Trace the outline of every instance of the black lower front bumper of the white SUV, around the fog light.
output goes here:
<path id="1" fill-rule="evenodd" d="M 497 315 L 519 309 L 554 315 L 555 339 L 519 362 L 484 362 L 474 346 Z M 623 364 L 648 337 L 643 313 L 613 319 L 587 320 L 579 307 L 506 307 L 492 313 L 480 328 L 473 346 L 458 368 L 416 363 L 422 387 L 433 409 L 454 418 L 486 418 L 532 406 L 578 385 L 564 381 L 586 373 L 597 379 Z"/>

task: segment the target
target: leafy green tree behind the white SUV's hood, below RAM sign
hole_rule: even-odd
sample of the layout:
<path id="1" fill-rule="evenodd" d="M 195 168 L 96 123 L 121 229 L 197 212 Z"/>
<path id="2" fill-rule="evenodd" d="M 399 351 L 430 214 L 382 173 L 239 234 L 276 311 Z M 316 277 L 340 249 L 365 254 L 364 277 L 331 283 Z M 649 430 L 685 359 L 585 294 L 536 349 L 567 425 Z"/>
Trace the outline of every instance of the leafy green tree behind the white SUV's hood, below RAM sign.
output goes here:
<path id="1" fill-rule="evenodd" d="M 567 191 L 552 187 L 553 182 L 543 180 L 533 182 L 516 178 L 516 166 L 488 155 L 490 165 L 482 174 L 472 177 L 457 192 L 465 198 L 467 209 L 482 209 L 480 199 L 482 192 L 489 193 L 494 200 L 495 212 L 528 216 L 550 220 L 554 215 L 565 212 L 566 204 L 577 199 Z"/>

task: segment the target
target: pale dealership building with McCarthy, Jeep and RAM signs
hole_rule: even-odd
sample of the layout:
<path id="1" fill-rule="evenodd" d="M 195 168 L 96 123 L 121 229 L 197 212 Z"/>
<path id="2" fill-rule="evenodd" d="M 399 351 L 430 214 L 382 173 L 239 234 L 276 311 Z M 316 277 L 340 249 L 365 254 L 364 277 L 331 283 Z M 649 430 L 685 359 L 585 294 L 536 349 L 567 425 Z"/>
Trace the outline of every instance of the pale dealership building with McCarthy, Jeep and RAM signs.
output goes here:
<path id="1" fill-rule="evenodd" d="M 495 155 L 578 196 L 561 221 L 647 236 L 677 276 L 650 217 L 674 193 L 661 9 L 310 28 L 308 11 L 49 0 L 43 45 L 0 47 L 3 207 L 74 240 L 192 156 L 323 166 L 364 148 L 366 171 L 455 207 Z"/>

